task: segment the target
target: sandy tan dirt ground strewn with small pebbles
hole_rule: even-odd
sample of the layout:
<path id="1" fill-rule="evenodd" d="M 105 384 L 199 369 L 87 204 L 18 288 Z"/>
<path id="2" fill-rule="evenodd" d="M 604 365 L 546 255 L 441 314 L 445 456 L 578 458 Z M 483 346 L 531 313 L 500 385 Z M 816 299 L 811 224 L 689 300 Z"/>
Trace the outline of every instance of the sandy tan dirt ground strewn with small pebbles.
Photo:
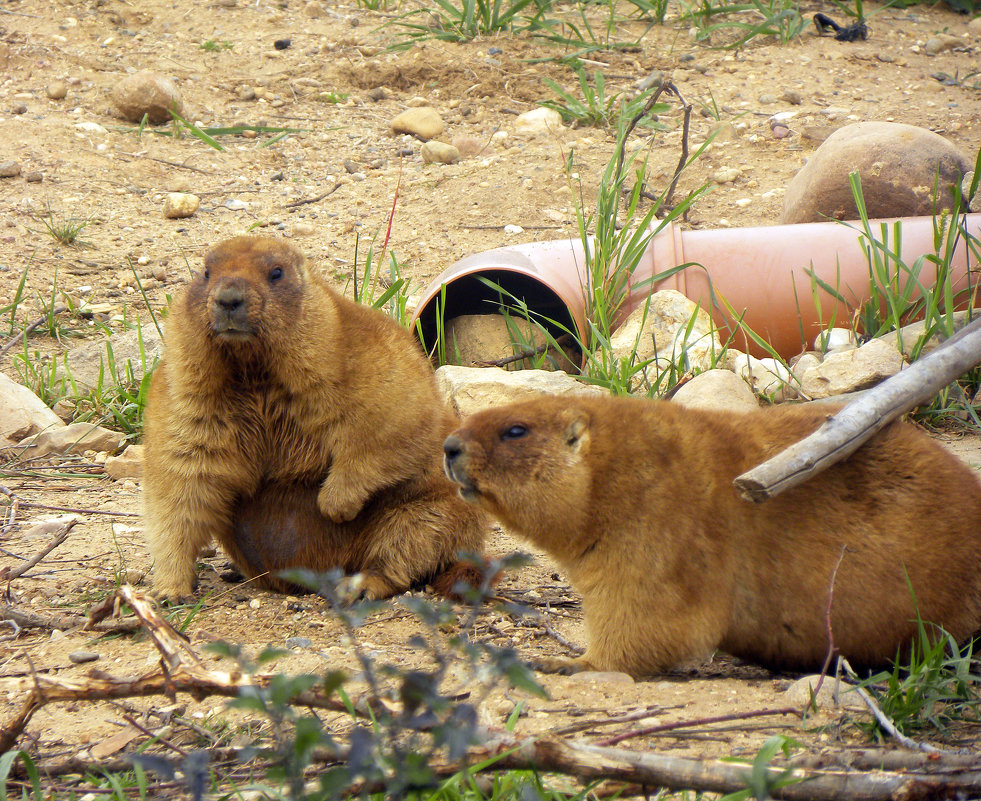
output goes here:
<path id="1" fill-rule="evenodd" d="M 754 43 L 737 53 L 694 44 L 688 26 L 670 19 L 673 10 L 668 24 L 650 30 L 638 47 L 593 53 L 590 57 L 599 63 L 589 66 L 603 70 L 608 92 L 628 89 L 661 70 L 673 76 L 696 110 L 717 106 L 721 122 L 729 123 L 726 134 L 686 175 L 682 189 L 711 179 L 722 168 L 737 168 L 738 174 L 697 203 L 689 225 L 774 224 L 788 181 L 822 136 L 847 122 L 912 123 L 943 134 L 971 155 L 981 146 L 981 90 L 945 85 L 933 77 L 978 69 L 981 33 L 969 32 L 968 18 L 943 5 L 898 10 L 866 4 L 867 11 L 873 8 L 873 35 L 867 41 L 837 42 L 808 29 L 789 44 Z M 840 17 L 830 4 L 802 10 L 807 17 L 815 11 Z M 18 319 L 33 319 L 42 300 L 54 292 L 58 302 L 62 295 L 84 301 L 98 319 L 119 330 L 124 316 L 146 319 L 131 265 L 151 305 L 159 308 L 197 268 L 209 245 L 256 227 L 293 236 L 343 286 L 354 264 L 357 235 L 363 248 L 364 237 L 384 232 L 393 204 L 389 247 L 417 291 L 468 254 L 575 236 L 566 158 L 573 154 L 589 198 L 612 155 L 612 136 L 597 128 L 530 138 L 512 131 L 516 113 L 554 97 L 542 83 L 544 76 L 572 86 L 566 67 L 535 62 L 560 51 L 527 37 L 502 37 L 469 44 L 427 42 L 386 52 L 393 30 L 378 28 L 394 17 L 394 12 L 298 0 L 191 0 L 176 7 L 162 0 L 5 0 L 0 8 L 0 161 L 13 160 L 22 172 L 0 179 L 0 307 L 11 302 L 26 270 L 29 300 Z M 627 24 L 620 38 L 642 31 L 639 23 Z M 960 37 L 961 46 L 927 55 L 926 40 L 944 32 Z M 290 46 L 276 49 L 274 42 L 282 39 L 289 39 Z M 207 42 L 212 45 L 205 47 Z M 267 134 L 221 137 L 221 152 L 187 135 L 161 135 L 171 131 L 167 126 L 140 136 L 133 125 L 113 116 L 109 94 L 128 72 L 142 69 L 174 78 L 188 118 L 199 124 L 302 131 L 268 146 L 263 146 Z M 47 87 L 59 80 L 67 84 L 67 97 L 50 99 Z M 372 91 L 378 87 L 388 91 Z M 787 99 L 788 92 L 796 93 L 799 105 Z M 330 102 L 337 97 L 341 102 Z M 420 143 L 393 135 L 389 125 L 416 98 L 441 113 L 447 123 L 444 139 L 467 135 L 481 143 L 482 151 L 454 165 L 424 165 Z M 777 139 L 768 118 L 781 111 L 796 116 L 791 135 Z M 672 130 L 658 134 L 650 151 L 649 178 L 658 187 L 677 162 L 681 136 L 678 113 L 665 120 Z M 696 113 L 693 142 L 704 140 L 718 124 Z M 494 137 L 496 132 L 508 135 Z M 28 181 L 28 173 L 38 173 L 41 180 Z M 194 192 L 201 208 L 188 219 L 165 219 L 163 197 L 172 191 Z M 302 200 L 313 202 L 297 203 Z M 85 246 L 56 244 L 44 233 L 46 217 L 89 223 L 81 235 Z M 506 225 L 523 231 L 506 233 Z M 69 326 L 74 333 L 86 333 L 84 322 Z M 79 341 L 66 337 L 59 345 L 41 335 L 35 340 L 47 353 Z M 10 353 L 0 369 L 20 380 Z M 981 463 L 976 440 L 961 440 L 957 447 L 966 459 Z M 79 516 L 64 545 L 10 584 L 8 603 L 38 614 L 68 614 L 104 597 L 120 576 L 145 586 L 149 559 L 141 537 L 138 483 L 111 482 L 97 457 L 56 472 L 4 473 L 5 487 L 24 503 L 20 525 L 0 535 L 0 565 L 16 565 L 47 542 L 47 533 L 32 533 L 31 527 L 63 513 L 52 507 Z M 515 547 L 503 533 L 491 545 L 495 553 Z M 323 602 L 228 584 L 219 575 L 225 561 L 221 554 L 203 561 L 206 600 L 187 626 L 195 647 L 220 638 L 257 650 L 304 638 L 292 641 L 290 655 L 276 663 L 277 669 L 356 669 L 352 650 Z M 529 622 L 487 614 L 478 626 L 481 636 L 526 656 L 566 652 L 536 622 L 545 619 L 562 638 L 582 643 L 578 600 L 546 557 L 538 554 L 531 566 L 507 576 L 500 592 L 532 609 Z M 412 665 L 420 657 L 407 641 L 416 628 L 395 602 L 367 623 L 361 637 L 381 658 Z M 10 631 L 5 626 L 0 634 Z M 157 659 L 146 638 L 25 629 L 0 643 L 0 721 L 19 708 L 32 670 L 59 678 L 91 670 L 93 664 L 71 661 L 78 651 L 97 654 L 95 668 L 120 676 L 151 669 Z M 481 704 L 481 714 L 484 722 L 502 726 L 523 701 L 519 735 L 642 709 L 650 710 L 643 723 L 651 725 L 782 707 L 792 678 L 725 657 L 648 682 L 549 676 L 542 681 L 550 700 L 497 691 Z M 145 739 L 125 722 L 127 710 L 139 715 L 169 704 L 156 698 L 134 699 L 127 706 L 52 705 L 34 717 L 21 743 L 44 759 L 112 756 L 115 746 L 105 745 L 110 735 L 129 732 L 133 737 L 117 752 Z M 181 719 L 213 729 L 218 721 L 236 719 L 217 698 L 181 697 L 179 705 Z M 854 725 L 862 717 L 822 711 L 805 723 L 793 717 L 760 718 L 650 735 L 628 744 L 672 754 L 752 756 L 770 734 L 780 732 L 816 751 L 848 748 L 867 743 Z M 157 718 L 145 720 L 149 728 L 161 725 Z M 584 736 L 595 740 L 629 725 L 638 724 L 604 726 Z M 170 734 L 183 742 L 192 737 L 189 728 L 177 724 Z M 968 731 L 965 736 L 977 735 Z M 96 746 L 101 748 L 93 756 Z"/>

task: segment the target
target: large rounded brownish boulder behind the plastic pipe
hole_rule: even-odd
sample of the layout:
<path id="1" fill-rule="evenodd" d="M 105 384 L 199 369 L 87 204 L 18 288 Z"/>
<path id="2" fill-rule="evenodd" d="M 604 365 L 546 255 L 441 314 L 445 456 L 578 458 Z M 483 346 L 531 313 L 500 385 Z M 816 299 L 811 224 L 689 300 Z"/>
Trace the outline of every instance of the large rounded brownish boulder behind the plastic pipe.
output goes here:
<path id="1" fill-rule="evenodd" d="M 783 201 L 783 223 L 854 220 L 848 181 L 862 178 L 869 217 L 913 217 L 950 208 L 973 163 L 942 136 L 898 122 L 857 122 L 829 136 L 794 176 Z M 939 193 L 934 187 L 938 180 Z"/>

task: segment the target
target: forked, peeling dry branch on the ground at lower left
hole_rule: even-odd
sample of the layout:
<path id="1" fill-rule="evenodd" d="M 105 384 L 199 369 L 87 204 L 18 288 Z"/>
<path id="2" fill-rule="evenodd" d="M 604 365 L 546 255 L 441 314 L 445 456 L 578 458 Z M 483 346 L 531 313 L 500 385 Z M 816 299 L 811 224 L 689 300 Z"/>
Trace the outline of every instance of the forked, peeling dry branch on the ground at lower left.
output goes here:
<path id="1" fill-rule="evenodd" d="M 0 726 L 0 753 L 10 750 L 31 717 L 41 707 L 55 701 L 105 701 L 113 698 L 134 696 L 190 693 L 201 699 L 209 695 L 234 697 L 246 687 L 265 687 L 272 675 L 244 676 L 238 671 L 210 670 L 187 640 L 179 634 L 157 611 L 154 604 L 132 587 L 119 589 L 120 598 L 128 603 L 146 628 L 157 650 L 160 651 L 160 668 L 141 676 L 118 677 L 100 671 L 92 671 L 85 679 L 52 679 L 34 676 L 34 689 L 28 694 L 21 711 L 9 722 Z M 317 690 L 301 693 L 294 700 L 297 706 L 347 712 L 347 706 L 333 695 Z M 366 701 L 355 703 L 363 708 Z"/>

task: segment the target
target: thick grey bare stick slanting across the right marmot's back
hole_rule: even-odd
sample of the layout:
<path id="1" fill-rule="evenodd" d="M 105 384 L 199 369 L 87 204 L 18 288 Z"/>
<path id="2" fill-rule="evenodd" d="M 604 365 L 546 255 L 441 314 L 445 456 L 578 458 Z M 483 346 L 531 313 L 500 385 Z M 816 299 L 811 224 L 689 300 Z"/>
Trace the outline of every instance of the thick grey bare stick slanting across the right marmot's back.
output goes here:
<path id="1" fill-rule="evenodd" d="M 762 503 L 854 453 L 900 415 L 981 364 L 981 320 L 839 410 L 810 436 L 754 467 L 733 483 L 743 498 Z"/>

